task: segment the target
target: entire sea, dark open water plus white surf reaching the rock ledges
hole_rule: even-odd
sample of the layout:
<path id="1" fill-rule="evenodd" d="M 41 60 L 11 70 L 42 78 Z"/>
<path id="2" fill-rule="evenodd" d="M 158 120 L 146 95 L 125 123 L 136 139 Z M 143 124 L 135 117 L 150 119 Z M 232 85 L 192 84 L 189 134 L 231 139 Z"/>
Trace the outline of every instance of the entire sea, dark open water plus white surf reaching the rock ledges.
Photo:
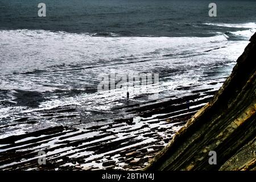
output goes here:
<path id="1" fill-rule="evenodd" d="M 156 90 L 166 98 L 224 81 L 256 32 L 256 1 L 216 0 L 216 17 L 211 2 L 0 0 L 0 138 L 60 124 L 1 127 L 40 110 L 74 105 L 90 125 L 126 105 L 127 89 L 97 92 L 102 73 L 158 73 L 158 85 L 130 94 L 136 103 Z"/>

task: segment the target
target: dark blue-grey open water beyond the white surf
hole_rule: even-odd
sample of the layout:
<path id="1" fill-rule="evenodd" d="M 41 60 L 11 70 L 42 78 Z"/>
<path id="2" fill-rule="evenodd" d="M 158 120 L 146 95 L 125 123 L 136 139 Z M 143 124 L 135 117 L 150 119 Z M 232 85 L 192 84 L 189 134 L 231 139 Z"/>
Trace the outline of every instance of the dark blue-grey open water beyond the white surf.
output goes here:
<path id="1" fill-rule="evenodd" d="M 47 16 L 38 17 L 38 3 Z M 216 0 L 217 17 L 207 0 L 1 0 L 0 28 L 50 30 L 102 36 L 212 36 L 236 27 L 204 23 L 255 22 L 256 1 Z M 242 27 L 241 27 L 242 28 Z"/>

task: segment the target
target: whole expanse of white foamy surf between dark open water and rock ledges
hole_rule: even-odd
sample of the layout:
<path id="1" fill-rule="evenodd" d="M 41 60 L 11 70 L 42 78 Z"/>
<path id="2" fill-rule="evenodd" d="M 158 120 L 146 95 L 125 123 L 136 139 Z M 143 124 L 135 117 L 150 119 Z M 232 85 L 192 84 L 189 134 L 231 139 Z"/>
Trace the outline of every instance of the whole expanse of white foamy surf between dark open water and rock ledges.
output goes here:
<path id="1" fill-rule="evenodd" d="M 0 88 L 39 92 L 52 91 L 56 88 L 67 92 L 71 90 L 72 93 L 72 89 L 86 90 L 86 86 L 97 84 L 97 76 L 100 73 L 109 73 L 109 69 L 115 69 L 119 75 L 134 71 L 159 73 L 161 78 L 161 74 L 164 74 L 165 80 L 160 81 L 159 87 L 157 85 L 149 85 L 148 89 L 143 87 L 142 94 L 153 94 L 157 90 L 161 90 L 163 97 L 186 94 L 187 90 L 175 88 L 202 84 L 199 80 L 210 72 L 212 65 L 222 67 L 230 61 L 236 61 L 247 44 L 243 41 L 228 41 L 227 38 L 224 34 L 205 38 L 98 37 L 43 30 L 0 30 L 2 55 Z M 108 66 L 109 64 L 113 65 Z M 72 65 L 93 68 L 76 71 L 72 70 Z M 101 66 L 94 67 L 95 65 Z M 218 77 L 228 74 L 225 67 L 223 69 L 221 67 L 217 69 Z M 9 75 L 13 72 L 27 72 L 35 69 L 49 72 Z M 68 71 L 61 71 L 64 69 Z M 210 78 L 214 80 L 214 74 Z M 82 107 L 89 114 L 92 110 L 109 112 L 112 107 L 122 105 L 123 101 L 126 101 L 126 92 L 125 89 L 117 89 L 110 93 L 75 95 L 65 95 L 64 92 L 63 97 L 53 92 L 53 94 L 46 94 L 47 100 L 41 102 L 35 109 L 12 106 L 5 108 L 6 106 L 0 105 L 0 119 L 5 120 L 14 113 L 25 115 L 30 112 L 36 113 L 37 110 L 70 104 Z M 130 94 L 130 99 L 136 100 L 135 96 L 139 94 L 136 92 Z M 66 125 L 66 122 L 68 121 L 63 121 L 62 124 Z M 33 127 L 54 126 L 55 122 L 42 121 L 37 124 Z M 5 133 L 11 134 L 12 129 L 7 130 Z M 17 131 L 24 132 L 24 130 L 32 129 L 24 127 L 22 131 Z"/>

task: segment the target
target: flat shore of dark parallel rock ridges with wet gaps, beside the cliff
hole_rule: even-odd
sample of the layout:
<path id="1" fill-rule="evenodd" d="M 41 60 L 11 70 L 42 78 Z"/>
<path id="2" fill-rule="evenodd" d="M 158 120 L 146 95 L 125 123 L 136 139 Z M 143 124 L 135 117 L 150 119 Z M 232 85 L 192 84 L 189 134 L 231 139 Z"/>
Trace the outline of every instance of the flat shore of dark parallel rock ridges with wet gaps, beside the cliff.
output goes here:
<path id="1" fill-rule="evenodd" d="M 179 88 L 187 90 L 181 96 L 117 107 L 115 110 L 126 117 L 92 127 L 81 127 L 77 119 L 79 110 L 72 105 L 42 110 L 37 113 L 39 120 L 67 119 L 74 121 L 73 125 L 0 139 L 0 169 L 143 169 L 176 131 L 209 102 L 222 80 L 207 85 L 208 89 L 202 85 Z M 8 129 L 9 125 L 19 128 L 25 123 L 36 125 L 37 121 L 27 114 L 1 126 L 0 130 Z M 40 151 L 46 152 L 46 164 L 38 163 Z"/>

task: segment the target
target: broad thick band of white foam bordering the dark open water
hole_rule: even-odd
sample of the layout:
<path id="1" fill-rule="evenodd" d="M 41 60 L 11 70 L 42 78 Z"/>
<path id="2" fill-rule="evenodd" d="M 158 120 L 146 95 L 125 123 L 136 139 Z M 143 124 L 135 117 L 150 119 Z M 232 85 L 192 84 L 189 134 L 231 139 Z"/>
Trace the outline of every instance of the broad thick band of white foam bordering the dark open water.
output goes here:
<path id="1" fill-rule="evenodd" d="M 0 75 L 102 65 L 129 57 L 153 58 L 164 52 L 200 49 L 207 46 L 205 44 L 225 40 L 224 35 L 209 38 L 100 37 L 44 30 L 0 30 Z"/>

